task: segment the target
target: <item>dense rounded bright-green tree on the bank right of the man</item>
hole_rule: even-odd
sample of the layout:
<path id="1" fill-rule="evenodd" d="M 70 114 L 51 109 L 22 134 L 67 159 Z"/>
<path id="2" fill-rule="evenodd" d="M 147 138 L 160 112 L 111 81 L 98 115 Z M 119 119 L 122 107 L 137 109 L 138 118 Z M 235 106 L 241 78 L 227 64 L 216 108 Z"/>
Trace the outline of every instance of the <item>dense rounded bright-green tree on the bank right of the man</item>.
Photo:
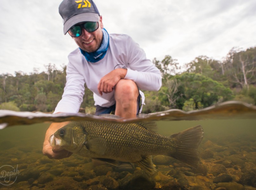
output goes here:
<path id="1" fill-rule="evenodd" d="M 174 94 L 175 104 L 176 101 L 179 102 L 182 108 L 186 105 L 200 109 L 233 98 L 233 92 L 229 88 L 202 74 L 182 73 L 174 76 L 174 79 L 180 81 L 178 91 Z M 192 100 L 193 104 L 190 103 Z"/>

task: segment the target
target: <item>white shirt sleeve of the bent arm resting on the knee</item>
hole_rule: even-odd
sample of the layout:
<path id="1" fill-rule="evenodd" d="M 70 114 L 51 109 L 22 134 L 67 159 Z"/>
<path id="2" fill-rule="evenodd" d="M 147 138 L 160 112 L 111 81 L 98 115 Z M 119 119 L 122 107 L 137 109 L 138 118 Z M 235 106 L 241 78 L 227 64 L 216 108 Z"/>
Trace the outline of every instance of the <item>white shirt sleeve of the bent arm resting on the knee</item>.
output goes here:
<path id="1" fill-rule="evenodd" d="M 133 80 L 141 90 L 158 91 L 162 85 L 160 70 L 146 58 L 143 49 L 128 38 L 128 67 L 124 79 Z"/>

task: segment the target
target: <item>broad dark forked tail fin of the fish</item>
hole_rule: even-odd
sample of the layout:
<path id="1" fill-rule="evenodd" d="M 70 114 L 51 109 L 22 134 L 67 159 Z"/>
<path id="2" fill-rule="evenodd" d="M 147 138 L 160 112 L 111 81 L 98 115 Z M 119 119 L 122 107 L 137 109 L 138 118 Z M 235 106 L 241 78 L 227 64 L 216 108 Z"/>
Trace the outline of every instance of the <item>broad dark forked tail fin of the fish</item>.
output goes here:
<path id="1" fill-rule="evenodd" d="M 168 156 L 197 168 L 200 158 L 196 149 L 203 139 L 203 134 L 202 126 L 198 125 L 170 136 L 175 140 L 176 151 Z"/>

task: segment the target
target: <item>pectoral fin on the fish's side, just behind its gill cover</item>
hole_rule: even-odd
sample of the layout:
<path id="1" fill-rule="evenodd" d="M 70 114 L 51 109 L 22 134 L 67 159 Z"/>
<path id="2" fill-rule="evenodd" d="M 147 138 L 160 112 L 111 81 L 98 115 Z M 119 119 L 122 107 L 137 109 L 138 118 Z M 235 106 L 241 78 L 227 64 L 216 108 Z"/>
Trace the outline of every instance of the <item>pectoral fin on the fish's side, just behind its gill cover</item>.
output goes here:
<path id="1" fill-rule="evenodd" d="M 103 155 L 107 148 L 106 139 L 104 138 L 95 138 L 83 143 L 86 148 L 92 152 L 95 152 L 99 155 Z"/>

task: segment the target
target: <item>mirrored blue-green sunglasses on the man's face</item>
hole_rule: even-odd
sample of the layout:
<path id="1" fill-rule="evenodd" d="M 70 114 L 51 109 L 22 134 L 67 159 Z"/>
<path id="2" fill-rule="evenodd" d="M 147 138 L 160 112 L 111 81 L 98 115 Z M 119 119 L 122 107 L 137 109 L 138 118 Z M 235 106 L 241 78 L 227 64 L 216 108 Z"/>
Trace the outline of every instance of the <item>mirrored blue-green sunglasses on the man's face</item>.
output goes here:
<path id="1" fill-rule="evenodd" d="M 99 28 L 99 22 L 84 22 L 82 24 L 76 24 L 69 29 L 69 35 L 72 37 L 79 37 L 82 35 L 82 29 L 87 32 L 94 32 Z"/>

